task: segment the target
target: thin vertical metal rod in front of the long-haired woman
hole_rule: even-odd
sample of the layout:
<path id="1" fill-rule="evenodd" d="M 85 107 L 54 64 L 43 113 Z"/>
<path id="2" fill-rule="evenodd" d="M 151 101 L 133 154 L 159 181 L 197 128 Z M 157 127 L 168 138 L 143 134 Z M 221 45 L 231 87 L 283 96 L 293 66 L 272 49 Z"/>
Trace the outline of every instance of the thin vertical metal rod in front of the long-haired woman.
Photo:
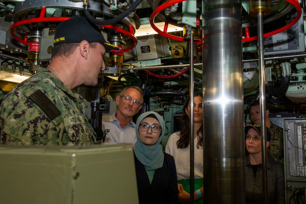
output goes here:
<path id="1" fill-rule="evenodd" d="M 193 67 L 193 53 L 194 53 L 194 36 L 190 37 L 190 203 L 194 203 L 194 67 Z"/>

